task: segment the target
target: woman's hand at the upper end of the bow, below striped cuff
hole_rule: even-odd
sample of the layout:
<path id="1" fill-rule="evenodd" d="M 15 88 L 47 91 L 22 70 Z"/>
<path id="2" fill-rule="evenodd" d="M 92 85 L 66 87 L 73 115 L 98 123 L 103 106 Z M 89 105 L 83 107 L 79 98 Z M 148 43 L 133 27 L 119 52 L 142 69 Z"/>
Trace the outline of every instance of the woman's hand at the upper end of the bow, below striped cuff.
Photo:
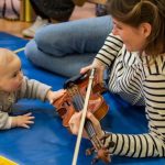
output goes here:
<path id="1" fill-rule="evenodd" d="M 96 82 L 98 84 L 102 84 L 103 82 L 103 72 L 105 72 L 105 65 L 95 59 L 94 63 L 91 65 L 88 65 L 86 67 L 82 67 L 80 69 L 80 74 L 85 74 L 87 73 L 88 70 L 91 70 L 92 68 L 96 68 L 96 73 L 97 73 L 97 79 L 96 79 Z"/>

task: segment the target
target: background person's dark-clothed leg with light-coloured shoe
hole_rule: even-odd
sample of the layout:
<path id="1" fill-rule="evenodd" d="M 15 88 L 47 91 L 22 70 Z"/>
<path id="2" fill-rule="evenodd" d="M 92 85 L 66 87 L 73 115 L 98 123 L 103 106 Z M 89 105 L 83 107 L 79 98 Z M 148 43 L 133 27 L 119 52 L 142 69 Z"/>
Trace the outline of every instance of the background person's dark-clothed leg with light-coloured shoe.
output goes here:
<path id="1" fill-rule="evenodd" d="M 34 37 L 35 32 L 43 25 L 54 22 L 68 21 L 75 4 L 72 0 L 30 0 L 35 12 L 36 20 L 22 34 L 28 37 Z"/>

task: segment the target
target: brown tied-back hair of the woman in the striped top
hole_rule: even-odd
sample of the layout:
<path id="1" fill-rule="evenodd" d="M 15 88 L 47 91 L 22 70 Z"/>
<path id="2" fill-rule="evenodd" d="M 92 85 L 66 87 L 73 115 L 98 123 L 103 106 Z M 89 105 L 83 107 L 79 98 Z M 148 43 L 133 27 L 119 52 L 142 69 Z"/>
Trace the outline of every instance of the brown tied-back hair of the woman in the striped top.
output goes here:
<path id="1" fill-rule="evenodd" d="M 145 52 L 153 56 L 165 53 L 165 0 L 108 0 L 107 8 L 114 19 L 133 28 L 150 23 Z"/>

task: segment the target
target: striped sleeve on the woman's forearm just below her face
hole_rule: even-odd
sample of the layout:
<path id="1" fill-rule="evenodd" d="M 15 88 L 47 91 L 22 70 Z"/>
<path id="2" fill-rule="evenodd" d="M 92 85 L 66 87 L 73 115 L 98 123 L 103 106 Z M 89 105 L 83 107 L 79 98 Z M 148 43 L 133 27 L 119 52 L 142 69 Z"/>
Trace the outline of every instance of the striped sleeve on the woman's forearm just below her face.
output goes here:
<path id="1" fill-rule="evenodd" d="M 123 43 L 121 38 L 110 33 L 106 38 L 103 46 L 97 54 L 96 58 L 101 61 L 107 66 L 110 66 L 116 59 L 120 50 L 122 48 L 122 45 Z"/>

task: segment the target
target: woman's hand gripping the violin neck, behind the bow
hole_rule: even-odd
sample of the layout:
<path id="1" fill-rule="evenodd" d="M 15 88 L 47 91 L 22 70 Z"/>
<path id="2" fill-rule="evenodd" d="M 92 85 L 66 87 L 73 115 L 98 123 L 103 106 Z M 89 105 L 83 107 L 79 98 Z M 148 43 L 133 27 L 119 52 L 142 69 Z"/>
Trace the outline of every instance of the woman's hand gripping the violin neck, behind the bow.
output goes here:
<path id="1" fill-rule="evenodd" d="M 73 114 L 73 117 L 69 120 L 69 128 L 73 134 L 78 134 L 80 120 L 81 120 L 81 113 L 82 112 L 76 112 Z M 95 118 L 95 116 L 91 112 L 87 112 L 87 119 L 89 119 L 94 125 L 94 129 L 97 133 L 97 136 L 101 139 L 103 136 L 103 131 L 101 130 L 100 122 Z M 86 131 L 82 132 L 84 138 L 88 138 Z"/>

